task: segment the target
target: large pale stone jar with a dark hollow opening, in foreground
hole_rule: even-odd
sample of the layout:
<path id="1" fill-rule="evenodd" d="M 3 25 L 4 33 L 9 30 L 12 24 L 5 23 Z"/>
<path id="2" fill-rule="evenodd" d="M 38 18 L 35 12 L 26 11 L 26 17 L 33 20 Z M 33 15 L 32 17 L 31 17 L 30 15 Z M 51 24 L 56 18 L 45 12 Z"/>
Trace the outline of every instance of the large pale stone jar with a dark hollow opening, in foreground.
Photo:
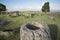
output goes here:
<path id="1" fill-rule="evenodd" d="M 20 40 L 51 40 L 49 28 L 41 22 L 28 22 L 20 28 Z"/>

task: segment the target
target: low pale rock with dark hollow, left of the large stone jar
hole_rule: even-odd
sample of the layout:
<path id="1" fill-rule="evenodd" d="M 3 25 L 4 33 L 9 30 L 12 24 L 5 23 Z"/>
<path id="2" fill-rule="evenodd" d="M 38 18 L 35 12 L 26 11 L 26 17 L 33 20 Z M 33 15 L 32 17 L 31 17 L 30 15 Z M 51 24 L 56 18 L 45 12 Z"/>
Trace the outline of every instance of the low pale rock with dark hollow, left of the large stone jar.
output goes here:
<path id="1" fill-rule="evenodd" d="M 18 32 L 19 29 L 5 29 L 5 30 L 0 30 L 0 35 L 4 35 L 6 37 L 9 37 L 10 35 L 14 35 L 14 33 Z"/>

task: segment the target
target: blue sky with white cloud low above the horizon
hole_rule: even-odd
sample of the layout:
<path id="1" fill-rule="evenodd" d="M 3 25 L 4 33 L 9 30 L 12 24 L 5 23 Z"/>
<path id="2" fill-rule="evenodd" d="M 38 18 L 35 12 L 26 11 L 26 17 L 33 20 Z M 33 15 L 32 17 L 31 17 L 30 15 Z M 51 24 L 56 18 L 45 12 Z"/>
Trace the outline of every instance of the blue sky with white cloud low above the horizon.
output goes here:
<path id="1" fill-rule="evenodd" d="M 45 2 L 50 3 L 51 11 L 60 11 L 60 0 L 0 0 L 8 11 L 41 11 Z"/>

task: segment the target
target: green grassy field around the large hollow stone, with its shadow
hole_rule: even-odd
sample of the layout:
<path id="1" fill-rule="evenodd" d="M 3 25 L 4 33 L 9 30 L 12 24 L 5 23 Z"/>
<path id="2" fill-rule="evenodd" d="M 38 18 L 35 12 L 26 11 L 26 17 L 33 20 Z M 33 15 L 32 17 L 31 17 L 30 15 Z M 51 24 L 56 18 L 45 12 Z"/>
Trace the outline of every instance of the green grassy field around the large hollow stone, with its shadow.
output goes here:
<path id="1" fill-rule="evenodd" d="M 29 21 L 42 21 L 48 24 L 51 30 L 52 39 L 60 40 L 60 14 L 58 13 L 49 14 L 50 16 L 53 15 L 54 17 L 53 20 L 48 18 L 49 16 L 48 14 L 39 13 L 34 15 L 33 17 L 28 16 L 25 18 L 26 15 L 27 13 L 22 13 L 20 16 L 17 17 L 10 17 L 7 14 L 0 15 L 0 18 L 2 20 L 7 20 L 10 22 L 8 25 L 0 25 L 0 30 L 18 28 L 21 27 L 21 25 L 23 25 L 24 23 Z M 19 40 L 18 38 L 16 39 Z"/>

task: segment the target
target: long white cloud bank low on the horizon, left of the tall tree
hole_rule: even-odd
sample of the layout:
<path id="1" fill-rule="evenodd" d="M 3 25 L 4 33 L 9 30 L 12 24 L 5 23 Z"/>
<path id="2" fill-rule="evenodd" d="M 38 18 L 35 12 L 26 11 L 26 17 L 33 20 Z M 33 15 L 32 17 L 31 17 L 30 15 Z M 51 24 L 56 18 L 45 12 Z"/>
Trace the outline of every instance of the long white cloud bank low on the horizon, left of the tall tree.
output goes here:
<path id="1" fill-rule="evenodd" d="M 23 7 L 23 6 L 15 6 L 15 7 L 12 7 L 12 8 L 8 8 L 9 11 L 27 11 L 27 10 L 40 10 L 41 9 L 41 6 L 27 6 L 27 7 Z"/>

